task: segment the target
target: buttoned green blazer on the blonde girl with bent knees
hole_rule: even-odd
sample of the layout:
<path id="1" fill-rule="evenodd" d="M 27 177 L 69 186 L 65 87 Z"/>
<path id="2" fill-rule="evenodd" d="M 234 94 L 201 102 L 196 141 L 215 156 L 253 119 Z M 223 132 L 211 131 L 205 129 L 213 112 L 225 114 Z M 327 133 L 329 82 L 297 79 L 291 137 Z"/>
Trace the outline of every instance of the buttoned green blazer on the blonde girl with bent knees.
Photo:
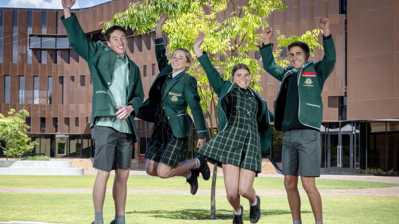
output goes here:
<path id="1" fill-rule="evenodd" d="M 165 55 L 165 43 L 163 38 L 155 39 L 155 55 L 158 63 L 159 75 L 155 78 L 148 92 L 148 99 L 138 108 L 137 118 L 154 123 L 156 108 L 162 100 L 162 109 L 168 116 L 172 132 L 176 138 L 191 136 L 192 120 L 187 114 L 187 106 L 197 128 L 198 138 L 207 137 L 208 130 L 203 116 L 201 104 L 199 103 L 197 80 L 182 71 L 176 75 L 166 87 L 161 99 L 161 90 L 166 77 L 172 73 L 172 65 Z"/>

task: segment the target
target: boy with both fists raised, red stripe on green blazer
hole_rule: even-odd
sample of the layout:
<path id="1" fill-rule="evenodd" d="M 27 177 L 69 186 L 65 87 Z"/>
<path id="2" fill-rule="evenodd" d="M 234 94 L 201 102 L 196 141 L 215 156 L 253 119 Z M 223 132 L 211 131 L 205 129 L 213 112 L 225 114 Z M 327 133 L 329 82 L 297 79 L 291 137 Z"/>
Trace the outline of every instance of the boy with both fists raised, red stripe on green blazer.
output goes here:
<path id="1" fill-rule="evenodd" d="M 324 57 L 308 61 L 309 47 L 296 41 L 288 45 L 292 66 L 283 69 L 275 63 L 271 48 L 273 30 L 263 31 L 261 56 L 264 69 L 281 81 L 275 102 L 275 128 L 283 131 L 282 174 L 294 224 L 301 224 L 298 175 L 301 177 L 316 224 L 323 223 L 322 200 L 315 177 L 320 177 L 320 125 L 323 119 L 321 93 L 324 83 L 334 69 L 336 52 L 329 21 L 319 21 L 323 30 Z"/>

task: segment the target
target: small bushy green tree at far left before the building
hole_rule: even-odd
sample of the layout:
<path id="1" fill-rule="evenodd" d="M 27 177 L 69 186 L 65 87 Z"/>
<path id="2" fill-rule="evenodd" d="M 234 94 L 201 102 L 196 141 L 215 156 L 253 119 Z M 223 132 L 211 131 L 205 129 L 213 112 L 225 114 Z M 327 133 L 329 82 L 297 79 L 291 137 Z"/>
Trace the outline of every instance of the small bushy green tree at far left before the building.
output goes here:
<path id="1" fill-rule="evenodd" d="M 25 121 L 29 116 L 29 112 L 25 109 L 18 113 L 15 109 L 8 112 L 8 117 L 0 114 L 0 119 L 8 122 L 0 122 L 0 141 L 4 141 L 4 155 L 13 159 L 20 159 L 26 153 L 32 152 L 36 145 L 36 141 L 32 141 L 25 132 L 30 128 Z"/>

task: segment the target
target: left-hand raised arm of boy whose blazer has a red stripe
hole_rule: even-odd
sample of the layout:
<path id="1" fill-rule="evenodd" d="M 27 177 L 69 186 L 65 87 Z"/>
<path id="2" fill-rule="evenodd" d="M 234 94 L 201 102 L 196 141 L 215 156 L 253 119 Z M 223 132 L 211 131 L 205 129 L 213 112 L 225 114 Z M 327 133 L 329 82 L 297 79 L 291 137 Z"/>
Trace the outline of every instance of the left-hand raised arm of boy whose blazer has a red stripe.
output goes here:
<path id="1" fill-rule="evenodd" d="M 273 57 L 273 51 L 271 46 L 271 37 L 273 36 L 272 28 L 265 28 L 263 30 L 263 44 L 259 52 L 262 57 L 263 69 L 265 69 L 270 75 L 278 79 L 282 80 L 284 76 L 285 70 L 277 65 L 275 62 L 275 58 Z"/>

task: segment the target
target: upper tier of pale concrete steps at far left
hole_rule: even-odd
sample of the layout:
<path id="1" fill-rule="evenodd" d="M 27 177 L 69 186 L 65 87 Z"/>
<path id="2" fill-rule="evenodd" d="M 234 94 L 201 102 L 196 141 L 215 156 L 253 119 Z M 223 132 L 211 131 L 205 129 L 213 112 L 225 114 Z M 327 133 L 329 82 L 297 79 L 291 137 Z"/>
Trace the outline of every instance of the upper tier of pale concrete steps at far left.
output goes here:
<path id="1" fill-rule="evenodd" d="M 10 168 L 71 168 L 71 161 L 0 161 L 0 167 Z"/>

